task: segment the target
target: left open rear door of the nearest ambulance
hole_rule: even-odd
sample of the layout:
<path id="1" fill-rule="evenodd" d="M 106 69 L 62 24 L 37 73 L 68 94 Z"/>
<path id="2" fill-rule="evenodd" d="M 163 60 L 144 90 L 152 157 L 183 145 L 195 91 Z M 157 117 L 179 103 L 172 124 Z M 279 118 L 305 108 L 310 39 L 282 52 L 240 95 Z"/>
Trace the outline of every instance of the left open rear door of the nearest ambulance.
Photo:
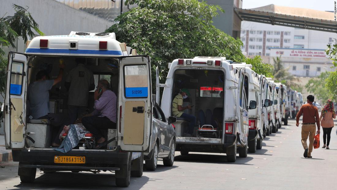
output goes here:
<path id="1" fill-rule="evenodd" d="M 7 86 L 4 101 L 6 148 L 25 147 L 27 56 L 9 52 Z"/>

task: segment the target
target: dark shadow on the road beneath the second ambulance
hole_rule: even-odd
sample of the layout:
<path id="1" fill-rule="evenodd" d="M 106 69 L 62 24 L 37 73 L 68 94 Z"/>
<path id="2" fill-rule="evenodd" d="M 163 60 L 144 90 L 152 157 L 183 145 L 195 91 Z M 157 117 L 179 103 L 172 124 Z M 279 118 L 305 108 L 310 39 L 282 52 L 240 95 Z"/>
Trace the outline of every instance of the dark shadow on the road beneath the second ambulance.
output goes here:
<path id="1" fill-rule="evenodd" d="M 212 163 L 212 164 L 239 164 L 239 165 L 253 165 L 247 164 L 252 160 L 252 157 L 240 158 L 236 157 L 235 162 L 228 162 L 225 155 L 212 155 L 212 154 L 188 154 L 179 155 L 175 157 L 176 161 L 180 162 L 197 162 L 197 163 Z"/>

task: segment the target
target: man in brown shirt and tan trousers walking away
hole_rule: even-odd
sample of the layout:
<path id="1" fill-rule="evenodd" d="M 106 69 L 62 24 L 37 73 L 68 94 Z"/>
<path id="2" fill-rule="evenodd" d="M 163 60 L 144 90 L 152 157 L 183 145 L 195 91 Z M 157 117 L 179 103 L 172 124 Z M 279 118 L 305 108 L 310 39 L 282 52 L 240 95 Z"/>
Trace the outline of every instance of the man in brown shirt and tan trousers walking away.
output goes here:
<path id="1" fill-rule="evenodd" d="M 318 109 L 315 107 L 312 103 L 314 101 L 315 97 L 312 95 L 309 95 L 307 97 L 307 104 L 302 105 L 300 111 L 297 113 L 296 116 L 296 126 L 298 127 L 299 119 L 301 115 L 303 114 L 303 120 L 302 120 L 302 145 L 304 148 L 304 158 L 312 158 L 311 152 L 313 148 L 314 143 L 314 136 L 316 131 L 317 124 L 317 134 L 319 134 L 319 115 L 318 115 Z M 309 147 L 307 144 L 307 139 L 309 137 Z"/>

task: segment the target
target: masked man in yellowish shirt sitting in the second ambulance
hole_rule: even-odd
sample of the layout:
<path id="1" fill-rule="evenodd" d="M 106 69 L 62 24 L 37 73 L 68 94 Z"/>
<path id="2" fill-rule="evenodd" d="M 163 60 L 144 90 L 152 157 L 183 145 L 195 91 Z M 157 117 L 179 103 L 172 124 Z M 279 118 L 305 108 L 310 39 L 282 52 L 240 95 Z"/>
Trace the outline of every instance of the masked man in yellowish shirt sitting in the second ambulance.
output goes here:
<path id="1" fill-rule="evenodd" d="M 175 117 L 182 117 L 189 122 L 189 128 L 184 134 L 185 137 L 191 137 L 193 134 L 194 126 L 195 126 L 195 116 L 184 113 L 185 109 L 192 109 L 191 106 L 183 106 L 183 99 L 187 98 L 191 94 L 189 93 L 187 88 L 183 88 L 180 90 L 180 93 L 173 99 L 172 101 L 172 115 Z"/>

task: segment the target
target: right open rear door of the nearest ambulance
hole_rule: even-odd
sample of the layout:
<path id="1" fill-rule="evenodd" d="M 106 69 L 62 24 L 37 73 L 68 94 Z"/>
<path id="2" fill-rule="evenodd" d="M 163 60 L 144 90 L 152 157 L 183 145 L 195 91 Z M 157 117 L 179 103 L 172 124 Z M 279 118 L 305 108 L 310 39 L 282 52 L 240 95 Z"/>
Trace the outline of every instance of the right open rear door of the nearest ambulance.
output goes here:
<path id="1" fill-rule="evenodd" d="M 151 67 L 148 56 L 121 58 L 118 145 L 123 151 L 149 152 Z"/>

